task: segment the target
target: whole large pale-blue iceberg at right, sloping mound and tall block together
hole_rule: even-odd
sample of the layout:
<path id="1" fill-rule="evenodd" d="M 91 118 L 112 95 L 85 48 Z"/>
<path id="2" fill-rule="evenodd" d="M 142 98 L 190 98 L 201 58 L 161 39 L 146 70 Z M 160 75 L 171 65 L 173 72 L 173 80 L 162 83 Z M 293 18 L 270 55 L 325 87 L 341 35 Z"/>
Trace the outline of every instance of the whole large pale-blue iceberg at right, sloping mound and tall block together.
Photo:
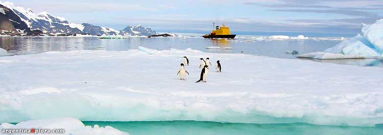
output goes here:
<path id="1" fill-rule="evenodd" d="M 372 25 L 362 24 L 362 34 L 340 42 L 336 46 L 326 49 L 323 52 L 331 55 L 329 59 L 343 58 L 375 58 L 382 57 L 383 53 L 383 19 L 376 20 Z M 318 54 L 318 56 L 316 56 Z M 322 53 L 309 53 L 305 56 L 310 58 L 325 59 L 319 56 Z M 342 55 L 339 55 L 342 54 Z M 344 56 L 343 56 L 344 55 Z M 298 57 L 305 57 L 299 55 Z"/>

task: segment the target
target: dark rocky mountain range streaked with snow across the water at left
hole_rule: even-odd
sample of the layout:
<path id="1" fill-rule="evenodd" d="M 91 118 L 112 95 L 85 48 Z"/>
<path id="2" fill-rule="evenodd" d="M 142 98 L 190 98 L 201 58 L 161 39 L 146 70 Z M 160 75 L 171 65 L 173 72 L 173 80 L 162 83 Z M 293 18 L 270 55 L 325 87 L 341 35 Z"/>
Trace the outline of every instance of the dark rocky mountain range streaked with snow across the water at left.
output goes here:
<path id="1" fill-rule="evenodd" d="M 29 8 L 14 6 L 11 2 L 0 2 L 0 35 L 124 35 L 150 36 L 156 34 L 149 27 L 128 26 L 118 31 L 112 28 L 87 23 L 74 24 L 63 17 L 47 12 L 33 13 Z"/>

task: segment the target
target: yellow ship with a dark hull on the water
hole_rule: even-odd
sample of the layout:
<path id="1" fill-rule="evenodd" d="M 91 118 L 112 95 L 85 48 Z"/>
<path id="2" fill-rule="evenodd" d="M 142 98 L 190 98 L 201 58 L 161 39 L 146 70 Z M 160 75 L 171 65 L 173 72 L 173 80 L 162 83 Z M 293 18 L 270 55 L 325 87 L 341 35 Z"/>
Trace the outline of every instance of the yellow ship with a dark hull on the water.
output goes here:
<path id="1" fill-rule="evenodd" d="M 215 26 L 216 24 L 213 22 L 214 30 L 210 34 L 206 34 L 204 38 L 234 38 L 236 35 L 230 34 L 229 27 L 226 27 L 225 24 L 220 26 Z"/>

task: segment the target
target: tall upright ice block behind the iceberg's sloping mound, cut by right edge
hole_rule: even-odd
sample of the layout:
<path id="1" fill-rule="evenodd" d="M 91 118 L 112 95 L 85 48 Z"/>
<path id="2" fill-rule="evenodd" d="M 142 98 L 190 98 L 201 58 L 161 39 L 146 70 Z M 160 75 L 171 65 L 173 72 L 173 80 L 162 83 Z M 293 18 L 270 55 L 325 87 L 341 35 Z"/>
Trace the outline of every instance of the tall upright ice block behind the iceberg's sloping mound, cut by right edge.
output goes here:
<path id="1" fill-rule="evenodd" d="M 376 22 L 370 26 L 362 24 L 362 33 L 372 45 L 383 50 L 383 19 L 376 20 Z"/>

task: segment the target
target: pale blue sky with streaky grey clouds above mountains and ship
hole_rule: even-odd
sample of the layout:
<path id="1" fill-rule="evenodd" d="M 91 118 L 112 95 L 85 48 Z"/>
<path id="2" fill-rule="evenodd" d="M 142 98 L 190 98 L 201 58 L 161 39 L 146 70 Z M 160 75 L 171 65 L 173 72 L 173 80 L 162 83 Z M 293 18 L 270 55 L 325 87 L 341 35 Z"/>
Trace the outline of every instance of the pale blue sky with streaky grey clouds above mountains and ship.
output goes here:
<path id="1" fill-rule="evenodd" d="M 4 0 L 3 0 L 4 2 Z M 157 32 L 209 33 L 212 22 L 235 34 L 351 37 L 361 22 L 383 18 L 383 0 L 125 1 L 14 0 L 34 13 L 116 30 L 143 25 Z"/>

